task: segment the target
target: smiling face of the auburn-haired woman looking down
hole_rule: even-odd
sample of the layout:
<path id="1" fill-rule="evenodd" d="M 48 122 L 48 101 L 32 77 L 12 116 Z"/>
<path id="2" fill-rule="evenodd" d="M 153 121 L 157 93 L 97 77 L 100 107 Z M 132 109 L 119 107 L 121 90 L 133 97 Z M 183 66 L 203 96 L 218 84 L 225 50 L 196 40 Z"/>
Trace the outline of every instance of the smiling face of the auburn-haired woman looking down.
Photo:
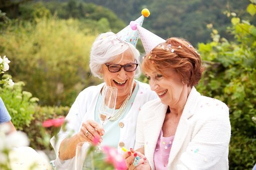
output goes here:
<path id="1" fill-rule="evenodd" d="M 186 100 L 188 86 L 182 83 L 182 79 L 174 70 L 167 70 L 163 76 L 156 70 L 146 72 L 151 90 L 155 91 L 161 102 L 173 108 L 181 101 Z"/>

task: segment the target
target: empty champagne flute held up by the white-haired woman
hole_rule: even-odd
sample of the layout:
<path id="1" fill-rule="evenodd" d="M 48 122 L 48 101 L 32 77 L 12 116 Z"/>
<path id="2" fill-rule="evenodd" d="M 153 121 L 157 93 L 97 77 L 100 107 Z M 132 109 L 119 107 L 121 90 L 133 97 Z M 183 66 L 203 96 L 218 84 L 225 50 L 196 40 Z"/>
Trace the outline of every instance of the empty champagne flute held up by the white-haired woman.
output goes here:
<path id="1" fill-rule="evenodd" d="M 109 121 L 112 116 L 114 116 L 116 109 L 116 99 L 117 88 L 106 86 L 102 93 L 102 99 L 99 106 L 99 118 L 102 128 L 104 128 L 104 125 Z M 101 146 L 98 146 L 96 152 L 103 152 L 103 148 Z"/>

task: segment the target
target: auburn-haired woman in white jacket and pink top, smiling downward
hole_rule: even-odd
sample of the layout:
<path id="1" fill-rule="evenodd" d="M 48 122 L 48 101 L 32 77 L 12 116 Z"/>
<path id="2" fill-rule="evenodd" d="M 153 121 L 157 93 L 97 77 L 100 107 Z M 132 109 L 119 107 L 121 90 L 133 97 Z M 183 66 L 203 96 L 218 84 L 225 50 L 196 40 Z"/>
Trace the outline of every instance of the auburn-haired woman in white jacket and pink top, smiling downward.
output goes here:
<path id="1" fill-rule="evenodd" d="M 229 109 L 194 87 L 203 72 L 195 48 L 169 38 L 145 56 L 142 70 L 159 98 L 141 108 L 135 149 L 144 146 L 145 155 L 125 152 L 129 169 L 228 169 Z"/>

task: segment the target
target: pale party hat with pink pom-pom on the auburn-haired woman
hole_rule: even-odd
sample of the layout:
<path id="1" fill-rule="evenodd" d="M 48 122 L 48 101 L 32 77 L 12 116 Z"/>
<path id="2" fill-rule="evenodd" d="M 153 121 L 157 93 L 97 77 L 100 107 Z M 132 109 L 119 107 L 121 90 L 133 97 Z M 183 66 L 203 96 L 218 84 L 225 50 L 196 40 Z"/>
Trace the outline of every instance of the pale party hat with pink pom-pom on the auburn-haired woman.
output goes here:
<path id="1" fill-rule="evenodd" d="M 142 45 L 145 49 L 146 54 L 149 53 L 153 48 L 155 48 L 158 44 L 164 43 L 165 40 L 158 37 L 157 35 L 151 33 L 150 31 L 144 29 L 143 27 L 139 26 L 136 22 L 131 21 L 130 27 L 132 30 L 137 30 Z"/>

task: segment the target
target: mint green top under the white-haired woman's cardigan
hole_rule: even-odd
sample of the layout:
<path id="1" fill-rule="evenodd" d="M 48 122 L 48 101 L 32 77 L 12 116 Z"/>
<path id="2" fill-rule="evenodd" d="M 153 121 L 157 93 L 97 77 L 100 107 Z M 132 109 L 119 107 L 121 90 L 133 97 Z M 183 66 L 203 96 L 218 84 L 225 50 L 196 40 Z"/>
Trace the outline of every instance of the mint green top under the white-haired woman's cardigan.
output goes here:
<path id="1" fill-rule="evenodd" d="M 102 146 L 104 146 L 104 145 L 112 146 L 112 147 L 118 146 L 119 137 L 120 137 L 119 121 L 122 120 L 126 116 L 126 114 L 129 112 L 130 108 L 132 107 L 132 104 L 136 97 L 138 89 L 139 89 L 139 86 L 138 86 L 138 82 L 136 81 L 135 89 L 126 105 L 126 108 L 125 108 L 123 114 L 119 117 L 119 119 L 117 119 L 115 121 L 109 120 L 105 124 L 105 126 L 104 126 L 105 134 L 102 136 L 102 138 L 103 138 Z M 97 121 L 99 124 L 101 124 L 101 121 L 99 118 L 99 105 L 100 105 L 101 98 L 102 98 L 102 95 L 100 93 L 98 100 L 97 100 L 96 109 L 95 109 L 95 121 Z M 118 112 L 118 110 L 119 109 L 115 110 L 115 114 Z"/>

